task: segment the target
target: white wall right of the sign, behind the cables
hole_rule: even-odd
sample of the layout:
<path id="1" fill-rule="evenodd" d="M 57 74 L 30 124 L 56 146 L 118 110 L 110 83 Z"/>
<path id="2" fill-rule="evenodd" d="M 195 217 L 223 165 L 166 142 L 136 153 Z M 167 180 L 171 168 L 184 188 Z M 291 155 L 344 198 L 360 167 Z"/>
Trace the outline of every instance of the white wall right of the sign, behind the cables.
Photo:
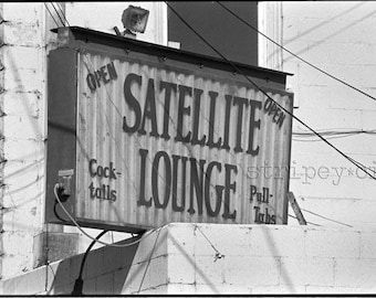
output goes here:
<path id="1" fill-rule="evenodd" d="M 373 1 L 280 2 L 281 43 L 294 54 L 376 97 L 376 25 Z M 281 17 L 281 15 L 280 15 Z M 271 19 L 269 19 L 271 21 Z M 375 129 L 376 102 L 282 51 L 281 70 L 293 73 L 294 115 L 318 132 Z M 294 121 L 293 131 L 306 131 Z M 375 171 L 372 134 L 325 135 L 345 155 Z M 376 181 L 317 137 L 293 135 L 290 188 L 307 221 L 375 227 Z M 292 213 L 293 214 L 293 213 Z M 326 219 L 325 219 L 326 217 Z M 327 219 L 334 220 L 330 221 Z M 336 222 L 335 222 L 336 221 Z M 343 225 L 345 226 L 345 225 Z"/>

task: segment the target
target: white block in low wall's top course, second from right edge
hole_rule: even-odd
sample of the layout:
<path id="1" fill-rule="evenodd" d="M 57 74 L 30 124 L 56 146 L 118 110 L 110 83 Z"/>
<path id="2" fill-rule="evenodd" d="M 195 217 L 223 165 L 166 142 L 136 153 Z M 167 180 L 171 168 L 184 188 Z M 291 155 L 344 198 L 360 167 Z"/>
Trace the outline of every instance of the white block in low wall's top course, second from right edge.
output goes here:
<path id="1" fill-rule="evenodd" d="M 359 233 L 345 230 L 334 231 L 307 230 L 305 235 L 306 256 L 359 257 Z"/>

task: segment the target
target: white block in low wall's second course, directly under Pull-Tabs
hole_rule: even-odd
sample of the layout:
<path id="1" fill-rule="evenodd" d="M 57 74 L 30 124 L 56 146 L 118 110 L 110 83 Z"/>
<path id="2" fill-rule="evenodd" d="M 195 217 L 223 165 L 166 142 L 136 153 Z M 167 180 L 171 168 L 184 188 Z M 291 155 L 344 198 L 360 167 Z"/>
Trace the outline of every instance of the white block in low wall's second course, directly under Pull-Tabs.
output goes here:
<path id="1" fill-rule="evenodd" d="M 280 283 L 280 259 L 278 257 L 227 256 L 224 280 L 230 285 L 264 285 Z"/>

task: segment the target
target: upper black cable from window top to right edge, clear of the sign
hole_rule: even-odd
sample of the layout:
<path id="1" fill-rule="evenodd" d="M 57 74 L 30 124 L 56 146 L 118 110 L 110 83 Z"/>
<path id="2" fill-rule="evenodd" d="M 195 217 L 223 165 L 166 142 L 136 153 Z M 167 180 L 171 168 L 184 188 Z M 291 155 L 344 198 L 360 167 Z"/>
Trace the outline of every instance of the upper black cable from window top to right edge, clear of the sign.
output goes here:
<path id="1" fill-rule="evenodd" d="M 236 17 L 239 21 L 241 21 L 242 23 L 244 23 L 246 25 L 248 25 L 249 28 L 251 28 L 252 30 L 254 30 L 255 32 L 258 32 L 259 34 L 261 34 L 262 36 L 264 36 L 267 40 L 269 40 L 270 42 L 274 43 L 276 46 L 281 47 L 282 50 L 286 51 L 289 54 L 293 55 L 294 57 L 299 58 L 300 61 L 304 62 L 305 64 L 310 65 L 311 67 L 315 68 L 316 71 L 332 77 L 333 79 L 346 85 L 347 87 L 357 91 L 358 93 L 362 93 L 363 95 L 369 97 L 370 99 L 376 100 L 376 97 L 369 95 L 368 93 L 361 91 L 357 87 L 354 87 L 353 85 L 346 83 L 345 81 L 318 68 L 317 66 L 313 65 L 312 63 L 307 62 L 306 60 L 300 57 L 299 55 L 294 54 L 293 52 L 291 52 L 290 50 L 288 50 L 286 47 L 284 47 L 283 45 L 279 44 L 278 42 L 273 41 L 272 39 L 270 39 L 268 35 L 265 35 L 264 33 L 260 32 L 257 28 L 254 28 L 252 24 L 250 24 L 249 22 L 247 22 L 246 20 L 243 20 L 242 18 L 240 18 L 239 15 L 237 15 L 233 11 L 231 11 L 230 9 L 228 9 L 226 6 L 223 6 L 222 3 L 220 3 L 219 1 L 217 1 L 217 3 L 219 6 L 221 6 L 224 10 L 227 10 L 229 13 L 231 13 L 233 17 Z"/>

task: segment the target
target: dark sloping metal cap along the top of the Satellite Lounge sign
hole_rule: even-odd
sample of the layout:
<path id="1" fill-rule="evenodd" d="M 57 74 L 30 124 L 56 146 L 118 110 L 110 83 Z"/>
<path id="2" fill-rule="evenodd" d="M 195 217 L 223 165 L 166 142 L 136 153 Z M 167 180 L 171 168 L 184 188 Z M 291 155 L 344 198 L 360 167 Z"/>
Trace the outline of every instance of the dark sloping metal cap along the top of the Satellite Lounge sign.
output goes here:
<path id="1" fill-rule="evenodd" d="M 51 31 L 58 33 L 59 29 L 60 28 L 55 28 L 52 29 Z M 202 64 L 205 66 L 219 68 L 231 73 L 238 73 L 230 63 L 223 61 L 222 58 L 197 54 L 184 50 L 177 50 L 174 47 L 168 47 L 155 43 L 127 39 L 124 36 L 117 36 L 115 34 L 95 31 L 87 28 L 70 26 L 69 29 L 71 30 L 75 40 L 82 40 L 84 42 L 94 42 L 119 49 L 134 50 L 142 53 L 146 53 L 148 55 L 166 56 L 167 58 L 171 60 L 182 61 L 191 64 Z M 248 65 L 233 61 L 231 61 L 231 63 L 236 65 L 246 75 L 270 79 L 283 85 L 285 85 L 285 77 L 288 75 L 293 75 L 291 73 L 284 73 L 280 71 Z"/>

